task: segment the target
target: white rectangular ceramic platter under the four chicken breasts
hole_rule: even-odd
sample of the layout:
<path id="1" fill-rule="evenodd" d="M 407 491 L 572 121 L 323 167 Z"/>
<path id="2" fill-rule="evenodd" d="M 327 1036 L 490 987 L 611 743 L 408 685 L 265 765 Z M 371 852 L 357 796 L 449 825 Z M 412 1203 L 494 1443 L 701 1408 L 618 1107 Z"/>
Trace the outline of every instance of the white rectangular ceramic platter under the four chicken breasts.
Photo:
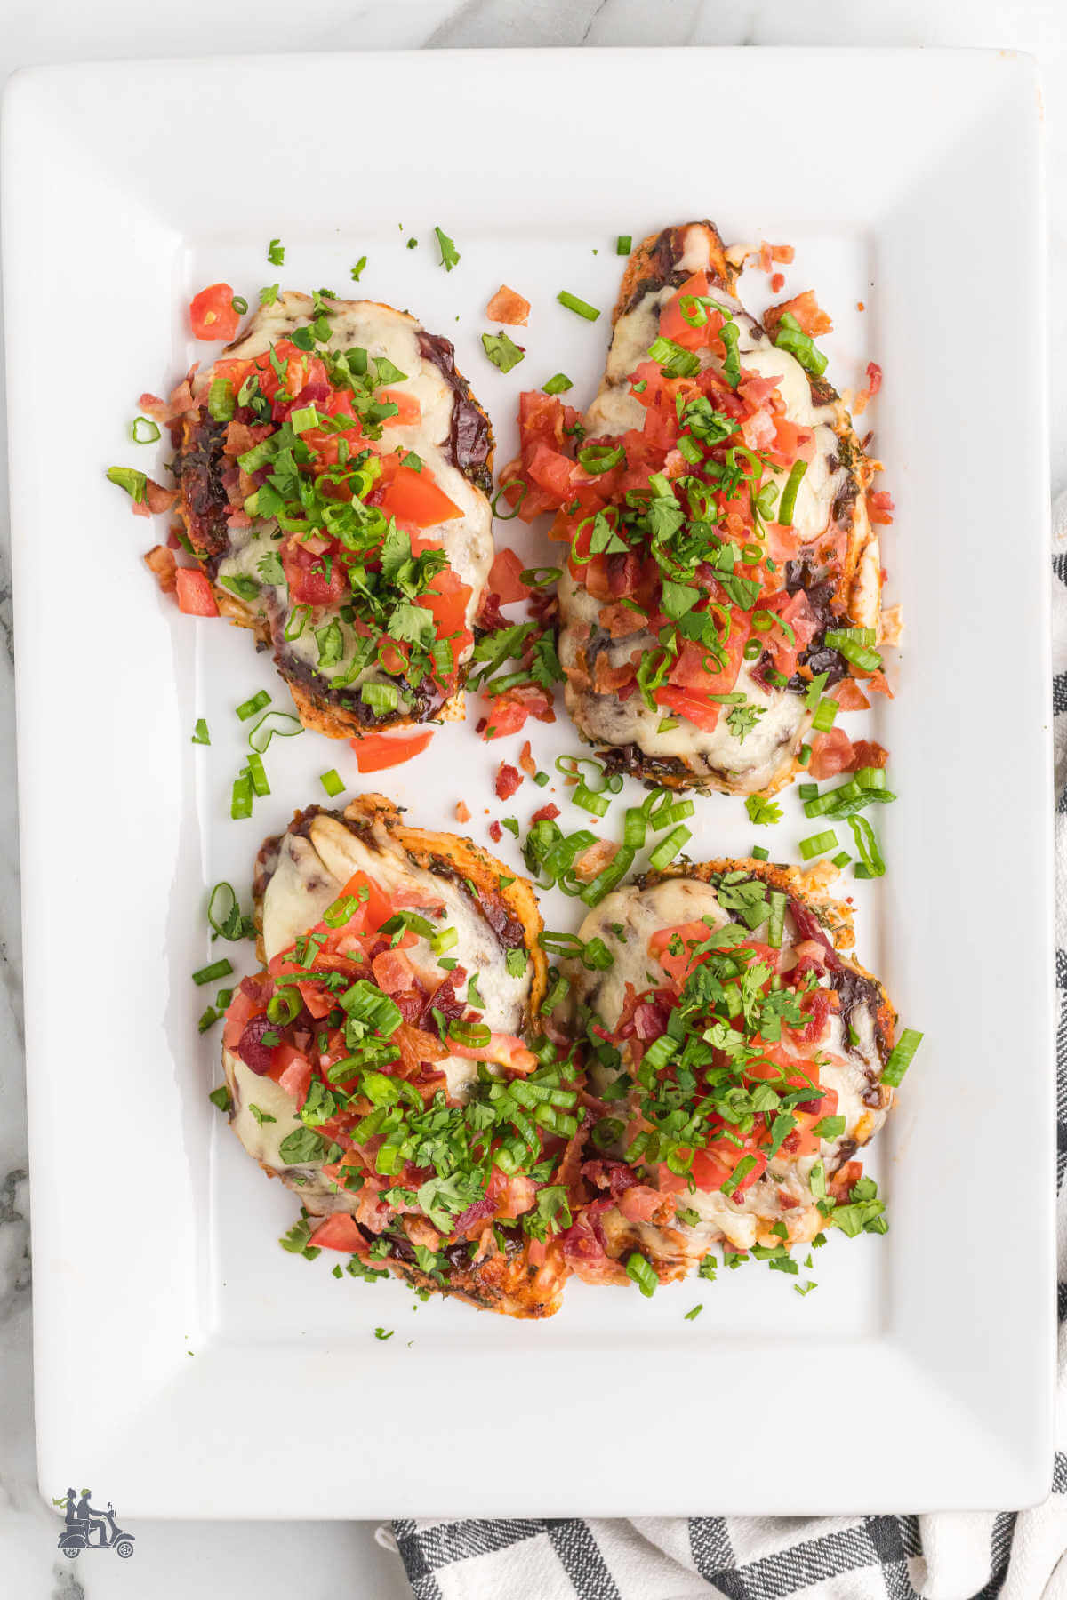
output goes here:
<path id="1" fill-rule="evenodd" d="M 689 106 L 685 136 L 654 133 L 664 94 Z M 838 118 L 861 109 L 853 155 Z M 726 50 L 59 67 L 8 93 L 3 190 L 43 1490 L 74 1472 L 141 1517 L 1038 1499 L 1054 1278 L 1032 62 Z M 563 370 L 582 405 L 603 363 L 608 317 L 577 320 L 557 290 L 606 312 L 619 232 L 705 214 L 728 242 L 797 246 L 787 291 L 814 286 L 833 312 L 838 387 L 870 358 L 885 368 L 869 419 L 897 504 L 885 560 L 907 653 L 897 699 L 845 725 L 891 747 L 901 800 L 880 818 L 889 875 L 843 893 L 861 960 L 926 1032 L 872 1165 L 891 1232 L 832 1235 L 805 1299 L 753 1264 L 653 1302 L 571 1283 L 544 1325 L 339 1283 L 326 1259 L 278 1250 L 293 1198 L 206 1102 L 218 1029 L 198 1040 L 189 973 L 208 960 L 205 885 L 245 888 L 262 835 L 325 798 L 323 770 L 349 795 L 374 781 L 347 744 L 302 734 L 267 754 L 254 819 L 229 821 L 246 731 L 232 707 L 267 688 L 285 709 L 285 688 L 246 634 L 157 597 L 139 562 L 150 525 L 104 467 L 165 459 L 123 426 L 142 389 L 214 354 L 187 338 L 190 294 L 226 278 L 254 302 L 278 277 L 410 306 L 453 338 L 501 464 L 522 387 Z M 453 274 L 435 224 L 462 253 Z M 534 307 L 510 376 L 478 341 L 502 282 Z M 766 304 L 760 274 L 745 291 Z M 549 557 L 520 523 L 498 536 Z M 200 715 L 208 750 L 190 744 Z M 561 712 L 528 733 L 542 766 L 577 747 Z M 486 806 L 525 824 L 563 800 L 561 784 L 494 800 L 518 742 L 451 726 L 379 786 L 429 827 L 454 826 L 466 798 L 485 842 Z M 699 800 L 694 859 L 760 837 L 795 856 L 811 824 L 795 790 L 779 798 L 784 821 L 760 830 L 742 802 Z M 565 806 L 563 821 L 585 819 Z M 617 837 L 621 806 L 603 827 Z M 507 834 L 499 853 L 520 861 Z M 544 912 L 574 926 L 573 902 L 547 896 Z M 234 949 L 248 965 L 250 946 L 210 954 Z"/>

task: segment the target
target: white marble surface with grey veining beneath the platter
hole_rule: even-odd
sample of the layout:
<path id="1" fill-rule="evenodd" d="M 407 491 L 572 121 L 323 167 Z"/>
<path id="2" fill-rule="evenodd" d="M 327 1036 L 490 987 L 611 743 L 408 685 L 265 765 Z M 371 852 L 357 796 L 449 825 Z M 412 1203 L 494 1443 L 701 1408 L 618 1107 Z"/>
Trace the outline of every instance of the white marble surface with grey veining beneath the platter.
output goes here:
<path id="1" fill-rule="evenodd" d="M 184 0 L 58 6 L 5 0 L 0 80 L 21 66 L 138 56 L 485 45 L 984 45 L 1032 51 L 1045 82 L 1049 168 L 1053 486 L 1067 485 L 1067 3 L 1064 0 Z M 816 86 L 814 93 L 822 93 Z M 827 83 L 862 155 L 862 88 Z M 912 114 L 912 112 L 909 112 Z M 915 109 L 921 115 L 921 109 Z M 848 134 L 846 134 L 848 141 Z M 990 219 L 995 238 L 997 219 Z M 1009 285 L 990 254 L 990 314 Z M 1009 416 L 1009 402 L 1006 414 Z M 0 467 L 0 470 L 3 470 Z M 30 1262 L 21 1059 L 18 814 L 6 486 L 0 485 L 0 1595 L 11 1600 L 400 1600 L 400 1565 L 371 1523 L 139 1523 L 133 1562 L 56 1550 L 37 1491 L 30 1397 Z M 106 1485 L 101 1486 L 106 1490 Z M 517 1597 L 518 1600 L 518 1597 Z M 530 1597 L 536 1600 L 536 1597 Z"/>

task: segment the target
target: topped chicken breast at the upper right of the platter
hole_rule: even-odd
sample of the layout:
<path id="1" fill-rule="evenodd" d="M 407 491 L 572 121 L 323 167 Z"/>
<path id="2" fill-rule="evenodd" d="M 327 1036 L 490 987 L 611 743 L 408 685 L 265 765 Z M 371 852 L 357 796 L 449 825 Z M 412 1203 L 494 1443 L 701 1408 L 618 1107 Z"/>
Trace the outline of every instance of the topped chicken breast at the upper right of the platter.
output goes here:
<path id="1" fill-rule="evenodd" d="M 793 317 L 822 314 L 800 296 L 763 326 L 736 283 L 710 222 L 645 240 L 589 411 L 525 395 L 502 477 L 571 544 L 558 653 L 579 733 L 640 778 L 769 795 L 819 688 L 880 664 L 881 565 L 875 469 Z"/>

